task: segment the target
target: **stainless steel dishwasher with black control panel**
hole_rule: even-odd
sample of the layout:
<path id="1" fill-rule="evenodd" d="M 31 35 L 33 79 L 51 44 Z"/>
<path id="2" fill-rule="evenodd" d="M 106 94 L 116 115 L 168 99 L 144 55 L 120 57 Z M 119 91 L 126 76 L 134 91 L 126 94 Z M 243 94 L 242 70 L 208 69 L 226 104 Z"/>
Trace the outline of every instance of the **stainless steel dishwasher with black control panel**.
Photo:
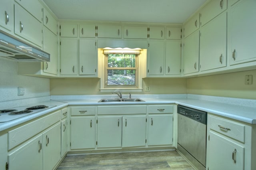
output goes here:
<path id="1" fill-rule="evenodd" d="M 198 170 L 206 169 L 207 112 L 178 105 L 178 150 Z"/>

